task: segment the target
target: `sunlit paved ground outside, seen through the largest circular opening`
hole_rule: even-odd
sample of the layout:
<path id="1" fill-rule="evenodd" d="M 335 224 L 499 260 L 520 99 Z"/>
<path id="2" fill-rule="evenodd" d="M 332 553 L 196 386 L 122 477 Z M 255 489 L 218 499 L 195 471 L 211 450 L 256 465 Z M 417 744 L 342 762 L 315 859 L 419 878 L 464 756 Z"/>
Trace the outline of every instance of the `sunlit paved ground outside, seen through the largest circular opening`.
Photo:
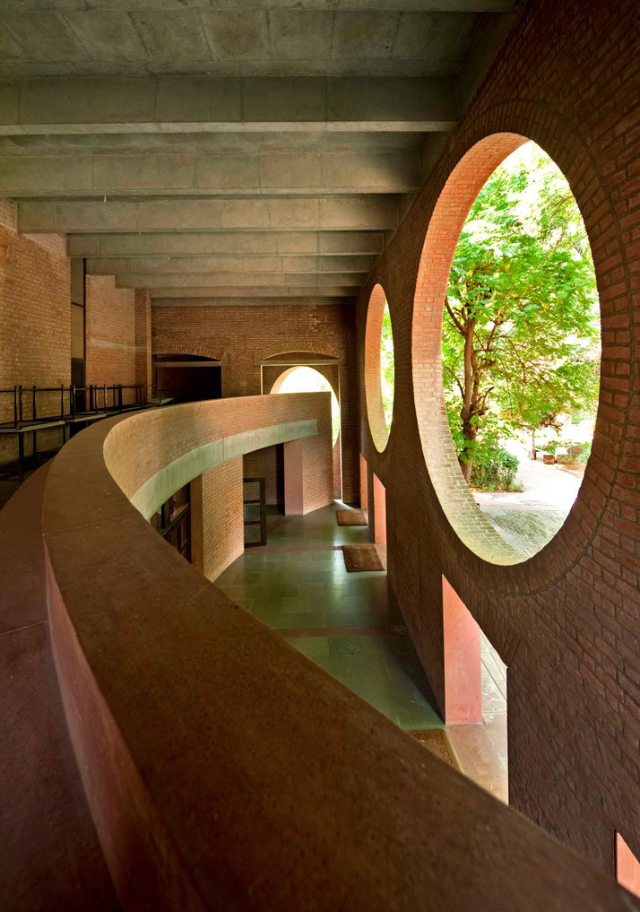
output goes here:
<path id="1" fill-rule="evenodd" d="M 476 503 L 509 544 L 537 554 L 562 527 L 582 482 L 582 473 L 520 456 L 516 481 L 522 492 L 474 492 Z"/>

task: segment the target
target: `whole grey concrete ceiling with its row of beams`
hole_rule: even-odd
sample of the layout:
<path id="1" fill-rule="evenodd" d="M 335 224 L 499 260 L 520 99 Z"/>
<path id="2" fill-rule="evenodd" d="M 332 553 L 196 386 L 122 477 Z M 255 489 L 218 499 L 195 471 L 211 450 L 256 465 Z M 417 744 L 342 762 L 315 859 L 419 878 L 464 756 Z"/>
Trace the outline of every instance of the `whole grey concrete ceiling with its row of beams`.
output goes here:
<path id="1" fill-rule="evenodd" d="M 155 303 L 352 301 L 514 0 L 0 0 L 0 195 Z"/>

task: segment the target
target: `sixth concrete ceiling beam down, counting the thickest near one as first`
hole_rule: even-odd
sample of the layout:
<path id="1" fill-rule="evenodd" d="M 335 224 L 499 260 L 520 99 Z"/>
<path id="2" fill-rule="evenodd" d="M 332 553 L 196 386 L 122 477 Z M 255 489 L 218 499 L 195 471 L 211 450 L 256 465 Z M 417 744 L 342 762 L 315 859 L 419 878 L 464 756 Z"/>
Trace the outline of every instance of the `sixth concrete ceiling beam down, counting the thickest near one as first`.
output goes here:
<path id="1" fill-rule="evenodd" d="M 367 273 L 129 273 L 116 275 L 119 288 L 248 288 L 253 285 L 273 288 L 298 285 L 322 288 L 325 285 L 352 286 L 359 289 Z M 352 291 L 352 294 L 355 292 Z"/>

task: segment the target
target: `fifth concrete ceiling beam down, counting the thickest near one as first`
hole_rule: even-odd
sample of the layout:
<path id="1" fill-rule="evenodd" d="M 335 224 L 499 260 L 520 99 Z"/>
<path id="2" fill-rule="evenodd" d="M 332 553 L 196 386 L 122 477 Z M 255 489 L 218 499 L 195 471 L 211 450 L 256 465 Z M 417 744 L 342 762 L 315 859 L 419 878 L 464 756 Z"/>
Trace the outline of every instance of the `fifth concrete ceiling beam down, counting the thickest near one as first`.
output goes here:
<path id="1" fill-rule="evenodd" d="M 90 275 L 198 273 L 369 273 L 373 256 L 142 256 L 88 259 Z"/>

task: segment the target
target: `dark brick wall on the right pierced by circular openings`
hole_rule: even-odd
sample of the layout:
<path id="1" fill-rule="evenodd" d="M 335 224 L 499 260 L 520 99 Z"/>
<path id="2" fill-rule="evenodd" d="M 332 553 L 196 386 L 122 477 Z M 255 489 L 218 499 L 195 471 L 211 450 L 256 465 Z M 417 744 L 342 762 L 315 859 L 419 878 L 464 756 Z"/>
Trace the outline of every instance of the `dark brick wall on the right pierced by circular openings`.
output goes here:
<path id="1" fill-rule="evenodd" d="M 361 383 L 361 448 L 369 485 L 376 472 L 387 489 L 389 579 L 439 704 L 445 575 L 509 665 L 511 803 L 612 873 L 614 829 L 640 855 L 636 17 L 631 0 L 541 0 L 526 7 L 357 305 L 362 378 L 366 306 L 374 285 L 383 285 L 396 346 L 395 420 L 380 454 Z M 428 262 L 421 257 L 451 173 L 481 140 L 507 133 L 537 141 L 562 168 L 581 207 L 601 296 L 603 362 L 593 455 L 572 513 L 540 554 L 499 566 L 454 533 L 435 488 L 442 490 L 446 478 L 437 477 L 432 458 L 429 475 L 420 436 L 429 407 L 437 409 L 436 399 L 424 397 L 434 397 L 440 383 L 428 337 L 441 321 L 441 297 L 436 305 L 425 289 L 429 275 L 443 273 L 446 281 L 454 226 L 473 200 L 468 182 L 454 188 Z"/>

